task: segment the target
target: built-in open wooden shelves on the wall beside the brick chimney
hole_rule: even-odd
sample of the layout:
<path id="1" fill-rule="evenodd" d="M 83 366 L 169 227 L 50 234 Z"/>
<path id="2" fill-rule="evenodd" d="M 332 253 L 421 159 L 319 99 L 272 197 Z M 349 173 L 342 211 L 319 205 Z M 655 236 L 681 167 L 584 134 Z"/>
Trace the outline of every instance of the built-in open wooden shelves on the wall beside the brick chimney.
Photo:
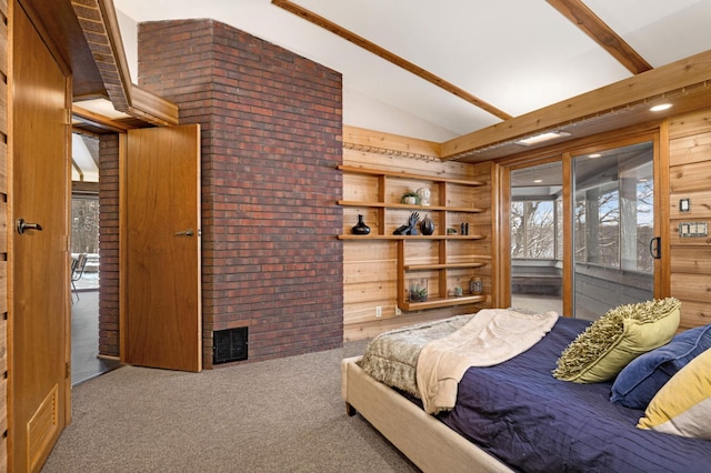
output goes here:
<path id="1" fill-rule="evenodd" d="M 340 200 L 338 203 L 343 207 L 351 208 L 360 208 L 360 209 L 375 209 L 377 211 L 377 220 L 378 225 L 377 232 L 373 232 L 368 235 L 354 235 L 354 234 L 341 234 L 338 235 L 340 240 L 360 240 L 360 241 L 373 241 L 373 240 L 393 240 L 397 242 L 397 291 L 398 291 L 398 306 L 403 311 L 419 311 L 424 309 L 438 309 L 438 308 L 447 308 L 453 305 L 462 305 L 462 304 L 473 304 L 479 302 L 487 301 L 488 296 L 485 294 L 482 295 L 472 295 L 464 294 L 461 296 L 448 296 L 448 276 L 453 270 L 467 270 L 477 268 L 482 268 L 488 263 L 481 261 L 471 261 L 471 262 L 452 262 L 450 261 L 450 245 L 457 244 L 462 241 L 475 241 L 484 239 L 481 234 L 448 234 L 447 233 L 447 223 L 448 223 L 448 214 L 450 213 L 461 213 L 461 214 L 470 214 L 470 213 L 481 213 L 485 212 L 485 209 L 480 209 L 474 205 L 442 205 L 441 203 L 448 202 L 449 192 L 452 187 L 482 187 L 485 185 L 483 182 L 479 181 L 469 181 L 462 179 L 449 179 L 449 178 L 438 178 L 432 175 L 423 175 L 423 174 L 414 174 L 414 173 L 405 173 L 405 172 L 390 172 L 374 169 L 365 169 L 365 168 L 356 168 L 348 165 L 340 165 L 340 170 L 347 173 L 354 174 L 363 174 L 373 177 L 377 179 L 378 184 L 378 199 L 377 201 L 372 200 Z M 387 198 L 389 183 L 393 180 L 407 180 L 410 182 L 421 182 L 423 185 L 425 183 L 431 183 L 437 189 L 437 199 L 435 202 L 440 203 L 438 205 L 412 205 L 404 204 L 400 202 L 394 202 L 392 197 Z M 432 213 L 439 213 L 439 225 L 435 229 L 435 234 L 432 235 L 395 235 L 392 234 L 394 228 L 387 228 L 385 218 L 387 212 L 389 211 L 425 211 Z M 451 223 L 451 222 L 450 222 Z M 411 264 L 407 261 L 407 251 L 405 248 L 408 244 L 418 244 L 427 241 L 431 241 L 435 243 L 437 246 L 437 260 L 435 263 L 428 264 Z M 433 251 L 433 250 L 432 250 Z M 460 258 L 461 259 L 461 258 Z M 472 260 L 474 256 L 472 255 Z M 437 273 L 437 293 L 428 294 L 428 300 L 423 302 L 412 302 L 409 300 L 409 296 L 405 292 L 408 281 L 413 279 L 418 272 L 435 272 Z"/>

